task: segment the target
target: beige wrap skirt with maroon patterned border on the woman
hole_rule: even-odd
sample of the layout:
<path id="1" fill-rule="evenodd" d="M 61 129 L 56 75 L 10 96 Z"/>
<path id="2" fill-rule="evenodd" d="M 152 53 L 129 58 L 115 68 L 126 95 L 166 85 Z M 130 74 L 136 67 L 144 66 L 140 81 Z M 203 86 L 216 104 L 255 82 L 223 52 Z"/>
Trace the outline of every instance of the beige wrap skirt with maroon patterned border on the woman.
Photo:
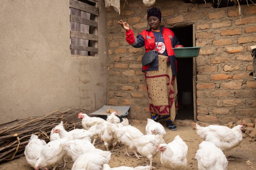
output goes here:
<path id="1" fill-rule="evenodd" d="M 149 109 L 159 115 L 170 115 L 175 120 L 177 101 L 177 79 L 172 75 L 167 56 L 158 55 L 159 70 L 145 72 Z"/>

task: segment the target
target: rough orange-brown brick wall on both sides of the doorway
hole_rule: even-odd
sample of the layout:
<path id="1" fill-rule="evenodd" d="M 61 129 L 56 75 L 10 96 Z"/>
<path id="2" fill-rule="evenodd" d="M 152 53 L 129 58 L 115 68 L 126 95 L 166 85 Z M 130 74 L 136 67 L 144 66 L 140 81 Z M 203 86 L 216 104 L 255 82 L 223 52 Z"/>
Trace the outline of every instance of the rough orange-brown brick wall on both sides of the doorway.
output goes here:
<path id="1" fill-rule="evenodd" d="M 252 71 L 250 46 L 256 44 L 256 6 L 250 4 L 213 8 L 211 3 L 192 4 L 179 0 L 157 0 L 163 26 L 195 23 L 197 119 L 204 122 L 236 122 L 256 117 L 256 81 Z M 133 48 L 125 41 L 122 19 L 137 35 L 147 28 L 147 9 L 142 0 L 120 2 L 120 15 L 109 7 L 106 12 L 108 45 L 108 105 L 131 106 L 131 119 L 150 117 L 141 57 L 144 47 Z M 241 17 L 241 18 L 240 18 Z"/>

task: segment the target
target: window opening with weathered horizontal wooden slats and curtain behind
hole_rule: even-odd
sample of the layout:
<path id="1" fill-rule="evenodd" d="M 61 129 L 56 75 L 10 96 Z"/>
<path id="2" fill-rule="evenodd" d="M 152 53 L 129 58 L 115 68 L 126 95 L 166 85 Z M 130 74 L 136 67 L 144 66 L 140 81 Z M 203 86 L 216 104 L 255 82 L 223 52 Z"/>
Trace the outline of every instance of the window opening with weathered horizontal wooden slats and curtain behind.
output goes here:
<path id="1" fill-rule="evenodd" d="M 71 56 L 94 56 L 97 48 L 96 0 L 70 0 L 70 49 Z"/>

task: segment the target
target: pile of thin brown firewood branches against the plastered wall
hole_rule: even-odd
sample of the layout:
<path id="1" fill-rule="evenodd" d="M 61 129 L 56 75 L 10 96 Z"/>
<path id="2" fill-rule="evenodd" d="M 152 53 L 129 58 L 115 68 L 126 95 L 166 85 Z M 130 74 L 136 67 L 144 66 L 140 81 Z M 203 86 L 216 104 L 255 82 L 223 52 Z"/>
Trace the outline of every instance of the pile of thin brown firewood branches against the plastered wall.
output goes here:
<path id="1" fill-rule="evenodd" d="M 52 128 L 58 125 L 60 121 L 65 122 L 67 131 L 82 128 L 81 120 L 74 119 L 74 117 L 81 111 L 88 112 L 86 108 L 88 107 L 65 107 L 46 116 L 29 117 L 9 122 L 9 124 L 15 124 L 10 127 L 0 128 L 0 163 L 23 156 L 31 134 L 38 135 L 38 138 L 45 140 L 46 143 L 49 142 Z M 72 118 L 74 121 L 71 121 Z"/>

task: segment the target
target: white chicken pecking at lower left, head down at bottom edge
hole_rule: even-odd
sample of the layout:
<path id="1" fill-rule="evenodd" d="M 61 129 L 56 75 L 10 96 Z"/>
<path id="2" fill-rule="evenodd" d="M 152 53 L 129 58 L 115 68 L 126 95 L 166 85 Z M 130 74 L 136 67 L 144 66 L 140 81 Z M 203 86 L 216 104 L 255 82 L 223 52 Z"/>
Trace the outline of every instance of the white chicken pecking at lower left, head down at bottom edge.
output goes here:
<path id="1" fill-rule="evenodd" d="M 57 165 L 60 161 L 63 161 L 65 167 L 65 160 L 64 157 L 66 156 L 67 152 L 63 150 L 61 143 L 66 141 L 67 139 L 57 139 L 54 141 L 48 142 L 46 145 L 42 147 L 41 153 L 37 161 L 35 162 L 35 170 L 39 168 L 49 167 L 55 164 L 53 170 L 56 169 Z"/>

